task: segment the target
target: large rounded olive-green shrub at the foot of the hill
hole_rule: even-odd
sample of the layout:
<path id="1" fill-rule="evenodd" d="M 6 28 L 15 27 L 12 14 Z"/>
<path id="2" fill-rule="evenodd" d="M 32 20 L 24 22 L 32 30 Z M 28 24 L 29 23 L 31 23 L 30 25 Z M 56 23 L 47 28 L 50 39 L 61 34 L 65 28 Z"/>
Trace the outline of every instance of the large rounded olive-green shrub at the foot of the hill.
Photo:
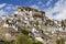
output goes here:
<path id="1" fill-rule="evenodd" d="M 18 36 L 16 44 L 32 44 L 32 40 L 28 35 Z"/>

